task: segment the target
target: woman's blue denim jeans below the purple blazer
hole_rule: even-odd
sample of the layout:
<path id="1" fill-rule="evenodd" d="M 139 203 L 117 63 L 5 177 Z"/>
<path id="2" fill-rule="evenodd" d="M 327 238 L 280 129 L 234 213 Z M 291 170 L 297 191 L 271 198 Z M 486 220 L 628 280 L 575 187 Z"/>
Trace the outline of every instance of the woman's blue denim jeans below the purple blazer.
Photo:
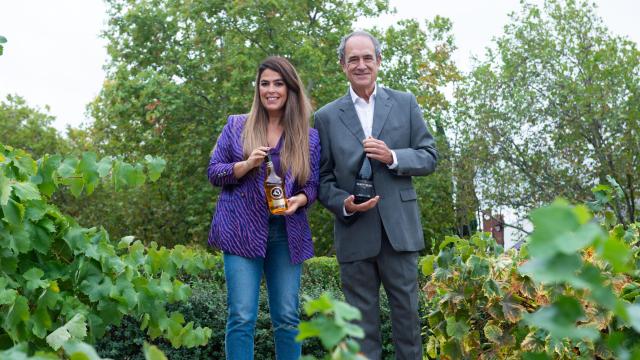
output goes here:
<path id="1" fill-rule="evenodd" d="M 301 268 L 300 264 L 291 264 L 289 259 L 283 216 L 269 218 L 269 239 L 264 259 L 224 254 L 228 309 L 225 353 L 228 360 L 253 359 L 253 337 L 263 273 L 269 294 L 276 359 L 300 358 L 302 346 L 295 337 L 300 322 L 298 292 Z"/>

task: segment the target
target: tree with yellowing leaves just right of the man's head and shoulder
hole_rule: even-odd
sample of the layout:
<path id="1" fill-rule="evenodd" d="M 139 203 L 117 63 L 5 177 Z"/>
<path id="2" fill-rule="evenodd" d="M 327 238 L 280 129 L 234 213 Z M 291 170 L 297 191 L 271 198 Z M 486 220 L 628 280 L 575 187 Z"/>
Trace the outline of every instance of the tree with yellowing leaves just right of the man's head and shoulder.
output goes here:
<path id="1" fill-rule="evenodd" d="M 460 207 L 454 204 L 455 160 L 443 121 L 450 109 L 443 89 L 461 80 L 451 59 L 456 49 L 451 34 L 452 23 L 436 16 L 424 25 L 422 27 L 415 20 L 403 20 L 380 35 L 384 45 L 380 79 L 385 86 L 416 95 L 425 121 L 436 138 L 440 155 L 436 172 L 426 178 L 414 179 L 425 241 L 430 248 L 445 235 L 459 233 L 457 228 L 469 221 L 456 219 L 456 209 Z M 462 199 L 461 195 L 457 198 Z"/>

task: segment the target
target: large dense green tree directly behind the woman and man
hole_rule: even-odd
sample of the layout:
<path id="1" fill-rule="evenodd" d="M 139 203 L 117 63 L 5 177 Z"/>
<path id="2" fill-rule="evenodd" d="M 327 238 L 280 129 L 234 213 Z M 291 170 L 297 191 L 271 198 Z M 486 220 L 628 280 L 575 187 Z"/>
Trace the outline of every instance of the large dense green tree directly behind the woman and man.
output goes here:
<path id="1" fill-rule="evenodd" d="M 104 36 L 111 61 L 108 79 L 90 106 L 95 121 L 87 129 L 89 138 L 102 154 L 132 161 L 145 153 L 161 155 L 167 176 L 142 191 L 98 194 L 68 211 L 86 221 L 106 219 L 117 235 L 134 232 L 163 244 L 204 243 L 217 196 L 205 177 L 209 154 L 226 117 L 249 111 L 260 60 L 274 54 L 289 58 L 317 108 L 347 89 L 335 52 L 340 38 L 355 19 L 389 11 L 386 1 L 369 0 L 107 3 Z M 445 105 L 439 87 L 454 76 L 453 47 L 448 21 L 429 23 L 427 31 L 406 22 L 385 35 L 389 66 L 383 81 L 416 92 L 435 126 Z M 448 177 L 440 181 L 444 187 L 432 186 L 435 177 L 419 186 L 429 201 L 424 206 L 429 237 L 455 227 L 446 205 L 450 176 L 441 175 Z M 436 188 L 441 195 L 431 194 Z M 132 198 L 144 205 L 125 206 Z M 449 210 L 436 215 L 440 209 Z M 309 218 L 317 253 L 331 253 L 331 214 L 314 205 Z"/>

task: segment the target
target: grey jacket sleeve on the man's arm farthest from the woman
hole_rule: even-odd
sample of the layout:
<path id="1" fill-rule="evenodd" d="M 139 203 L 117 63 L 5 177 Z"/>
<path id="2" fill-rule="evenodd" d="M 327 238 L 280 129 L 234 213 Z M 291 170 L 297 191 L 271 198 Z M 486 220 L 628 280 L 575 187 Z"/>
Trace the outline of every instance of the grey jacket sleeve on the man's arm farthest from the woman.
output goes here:
<path id="1" fill-rule="evenodd" d="M 398 159 L 398 167 L 393 169 L 400 176 L 429 175 L 436 169 L 438 151 L 435 147 L 433 136 L 427 129 L 422 118 L 422 111 L 416 97 L 410 95 L 409 112 L 411 126 L 411 147 L 405 149 L 393 149 Z"/>

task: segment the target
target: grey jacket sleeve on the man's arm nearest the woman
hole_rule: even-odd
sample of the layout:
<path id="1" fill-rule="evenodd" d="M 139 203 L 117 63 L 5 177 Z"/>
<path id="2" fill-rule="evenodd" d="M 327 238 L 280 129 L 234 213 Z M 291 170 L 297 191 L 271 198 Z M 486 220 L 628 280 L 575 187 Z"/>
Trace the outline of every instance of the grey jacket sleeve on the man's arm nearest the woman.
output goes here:
<path id="1" fill-rule="evenodd" d="M 352 216 L 344 215 L 344 199 L 349 197 L 348 192 L 337 186 L 336 176 L 333 172 L 334 161 L 331 154 L 331 138 L 328 132 L 328 124 L 325 124 L 322 115 L 314 115 L 314 126 L 320 136 L 320 186 L 318 187 L 318 200 L 331 211 L 336 219 L 351 223 L 358 213 Z"/>

